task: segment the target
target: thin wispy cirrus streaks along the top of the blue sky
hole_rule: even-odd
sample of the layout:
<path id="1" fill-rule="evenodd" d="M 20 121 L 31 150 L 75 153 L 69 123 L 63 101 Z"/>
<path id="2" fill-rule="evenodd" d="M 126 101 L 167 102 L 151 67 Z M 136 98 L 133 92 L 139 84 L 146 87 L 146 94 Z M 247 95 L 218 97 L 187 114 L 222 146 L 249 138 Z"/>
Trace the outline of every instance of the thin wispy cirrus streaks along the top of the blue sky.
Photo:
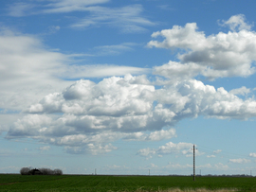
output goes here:
<path id="1" fill-rule="evenodd" d="M 82 1 L 82 0 L 58 0 L 41 1 L 41 4 L 14 3 L 7 9 L 9 16 L 22 17 L 30 14 L 53 14 L 85 11 L 86 17 L 76 17 L 77 21 L 69 26 L 72 28 L 88 28 L 99 26 L 111 26 L 119 28 L 124 33 L 137 33 L 147 30 L 147 26 L 155 26 L 156 23 L 147 19 L 141 5 L 130 5 L 120 8 L 98 6 L 109 0 Z"/>

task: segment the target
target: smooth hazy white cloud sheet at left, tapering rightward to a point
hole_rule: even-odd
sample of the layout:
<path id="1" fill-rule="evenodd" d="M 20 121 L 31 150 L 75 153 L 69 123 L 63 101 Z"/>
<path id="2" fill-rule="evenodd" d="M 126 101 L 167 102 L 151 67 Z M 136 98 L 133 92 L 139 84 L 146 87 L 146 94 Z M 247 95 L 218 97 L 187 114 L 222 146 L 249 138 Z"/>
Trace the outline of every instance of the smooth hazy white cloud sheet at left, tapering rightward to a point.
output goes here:
<path id="1" fill-rule="evenodd" d="M 149 69 L 109 64 L 79 65 L 78 57 L 46 48 L 40 38 L 3 28 L 0 30 L 0 109 L 21 110 L 50 92 L 62 90 L 64 79 L 145 74 Z M 72 64 L 70 64 L 72 63 Z M 147 72 L 146 72 L 147 73 Z M 59 88 L 57 88 L 59 87 Z"/>

